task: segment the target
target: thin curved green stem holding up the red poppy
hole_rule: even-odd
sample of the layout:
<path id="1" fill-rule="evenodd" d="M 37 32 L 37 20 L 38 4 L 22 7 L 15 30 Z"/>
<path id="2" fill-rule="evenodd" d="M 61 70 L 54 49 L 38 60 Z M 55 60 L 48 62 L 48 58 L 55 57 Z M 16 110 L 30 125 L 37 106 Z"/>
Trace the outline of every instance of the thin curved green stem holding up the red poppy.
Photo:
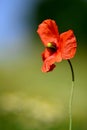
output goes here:
<path id="1" fill-rule="evenodd" d="M 71 61 L 68 60 L 68 63 L 70 65 L 71 73 L 72 73 L 72 87 L 71 87 L 71 93 L 70 93 L 70 100 L 69 100 L 69 130 L 72 130 L 72 100 L 73 100 L 73 92 L 74 92 L 74 70 L 71 64 Z"/>

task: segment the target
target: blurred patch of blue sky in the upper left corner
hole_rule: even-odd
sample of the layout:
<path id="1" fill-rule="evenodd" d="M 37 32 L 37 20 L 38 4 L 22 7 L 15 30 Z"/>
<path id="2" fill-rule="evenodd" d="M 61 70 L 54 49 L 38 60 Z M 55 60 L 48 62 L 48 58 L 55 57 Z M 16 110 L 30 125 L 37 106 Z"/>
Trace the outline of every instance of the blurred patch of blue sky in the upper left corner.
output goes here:
<path id="1" fill-rule="evenodd" d="M 31 17 L 40 0 L 1 0 L 0 1 L 0 59 L 17 54 L 18 46 L 26 37 L 30 39 Z M 28 13 L 29 23 L 26 24 Z M 21 48 L 21 47 L 19 47 Z M 18 50 L 17 50 L 18 49 Z M 14 52 L 14 53 L 13 53 Z"/>

